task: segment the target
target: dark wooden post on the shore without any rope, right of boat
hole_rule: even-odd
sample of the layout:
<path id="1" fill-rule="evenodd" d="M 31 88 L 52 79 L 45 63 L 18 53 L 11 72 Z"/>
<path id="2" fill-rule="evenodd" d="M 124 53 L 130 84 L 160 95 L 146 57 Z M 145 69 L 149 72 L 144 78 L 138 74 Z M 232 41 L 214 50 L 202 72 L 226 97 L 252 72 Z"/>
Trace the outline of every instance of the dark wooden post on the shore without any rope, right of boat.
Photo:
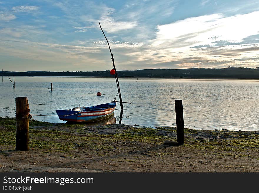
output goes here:
<path id="1" fill-rule="evenodd" d="M 177 142 L 180 145 L 184 144 L 184 132 L 183 132 L 183 110 L 182 110 L 182 100 L 175 100 L 175 115 L 176 115 L 176 135 Z"/>

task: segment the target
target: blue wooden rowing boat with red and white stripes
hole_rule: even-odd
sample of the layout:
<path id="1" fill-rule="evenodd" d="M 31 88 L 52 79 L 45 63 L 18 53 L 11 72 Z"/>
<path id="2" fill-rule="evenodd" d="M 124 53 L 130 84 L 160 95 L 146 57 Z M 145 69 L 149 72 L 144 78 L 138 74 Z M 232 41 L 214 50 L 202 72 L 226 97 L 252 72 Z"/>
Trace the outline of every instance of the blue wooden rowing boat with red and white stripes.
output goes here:
<path id="1" fill-rule="evenodd" d="M 56 110 L 59 120 L 72 122 L 94 122 L 109 118 L 115 110 L 116 102 L 105 103 L 91 107 L 75 107 L 66 110 Z"/>

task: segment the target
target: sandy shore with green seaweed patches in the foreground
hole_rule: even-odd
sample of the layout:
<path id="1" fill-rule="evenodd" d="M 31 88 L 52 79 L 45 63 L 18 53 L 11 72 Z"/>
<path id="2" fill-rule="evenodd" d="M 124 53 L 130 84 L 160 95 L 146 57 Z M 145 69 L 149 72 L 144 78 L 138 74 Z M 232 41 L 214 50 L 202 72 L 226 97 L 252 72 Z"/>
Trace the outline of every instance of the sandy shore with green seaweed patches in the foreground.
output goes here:
<path id="1" fill-rule="evenodd" d="M 53 124 L 30 121 L 29 151 L 15 151 L 15 118 L 0 118 L 0 172 L 259 172 L 259 131 Z"/>

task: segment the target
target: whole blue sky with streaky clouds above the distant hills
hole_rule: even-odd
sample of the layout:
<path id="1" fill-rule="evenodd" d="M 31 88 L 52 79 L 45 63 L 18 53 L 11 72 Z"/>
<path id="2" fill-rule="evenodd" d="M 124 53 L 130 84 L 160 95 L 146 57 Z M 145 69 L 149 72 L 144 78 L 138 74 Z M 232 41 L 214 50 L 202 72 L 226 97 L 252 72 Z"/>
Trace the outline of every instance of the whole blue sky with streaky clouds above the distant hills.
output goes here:
<path id="1" fill-rule="evenodd" d="M 258 0 L 0 0 L 4 71 L 259 66 Z"/>

